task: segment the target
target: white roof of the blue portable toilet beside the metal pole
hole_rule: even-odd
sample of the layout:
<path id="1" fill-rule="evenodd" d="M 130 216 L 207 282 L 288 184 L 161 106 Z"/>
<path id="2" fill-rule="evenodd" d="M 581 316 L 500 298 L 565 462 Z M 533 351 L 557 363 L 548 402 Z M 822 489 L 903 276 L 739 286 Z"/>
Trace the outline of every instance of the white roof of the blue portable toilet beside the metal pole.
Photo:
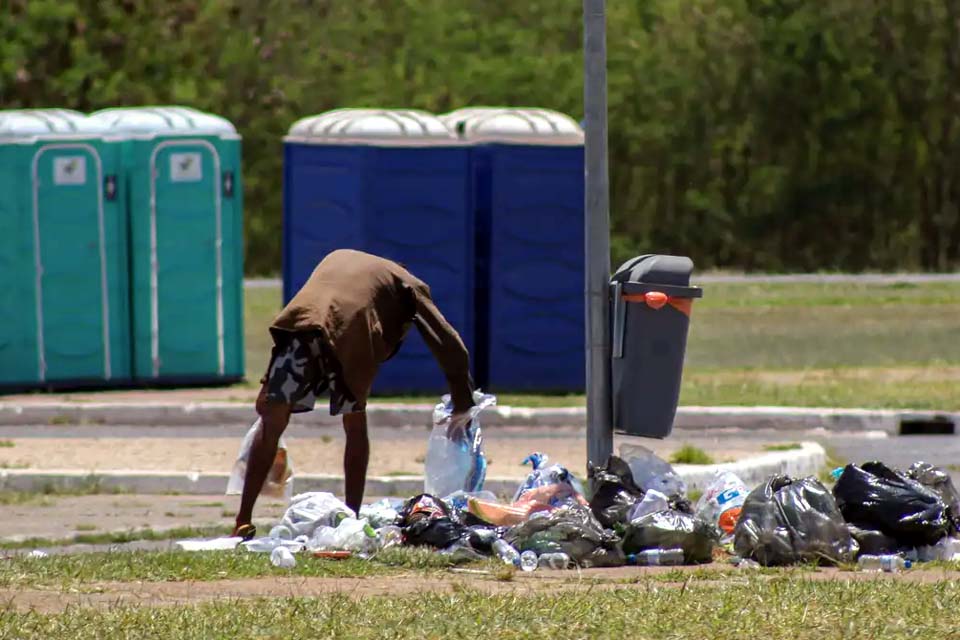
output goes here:
<path id="1" fill-rule="evenodd" d="M 582 145 L 583 129 L 568 115 L 550 109 L 467 107 L 441 116 L 470 142 Z"/>

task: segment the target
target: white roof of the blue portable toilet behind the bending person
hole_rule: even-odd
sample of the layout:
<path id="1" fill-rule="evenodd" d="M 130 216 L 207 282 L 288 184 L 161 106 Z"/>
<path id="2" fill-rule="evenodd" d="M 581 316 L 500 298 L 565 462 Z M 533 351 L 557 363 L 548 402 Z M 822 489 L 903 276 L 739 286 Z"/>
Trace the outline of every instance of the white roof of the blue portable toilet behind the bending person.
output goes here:
<path id="1" fill-rule="evenodd" d="M 458 143 L 439 118 L 413 109 L 336 109 L 297 120 L 284 140 L 384 146 Z"/>

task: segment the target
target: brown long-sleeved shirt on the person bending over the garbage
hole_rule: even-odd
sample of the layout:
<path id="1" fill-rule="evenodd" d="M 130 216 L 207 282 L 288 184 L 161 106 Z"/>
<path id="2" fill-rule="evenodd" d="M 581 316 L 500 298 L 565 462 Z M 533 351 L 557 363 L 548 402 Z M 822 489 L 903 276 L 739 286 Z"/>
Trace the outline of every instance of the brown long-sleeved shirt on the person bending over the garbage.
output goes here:
<path id="1" fill-rule="evenodd" d="M 434 305 L 430 287 L 390 260 L 334 251 L 313 270 L 271 331 L 321 330 L 340 362 L 344 384 L 362 408 L 377 369 L 397 352 L 411 323 L 440 364 L 455 409 L 473 406 L 463 341 Z"/>

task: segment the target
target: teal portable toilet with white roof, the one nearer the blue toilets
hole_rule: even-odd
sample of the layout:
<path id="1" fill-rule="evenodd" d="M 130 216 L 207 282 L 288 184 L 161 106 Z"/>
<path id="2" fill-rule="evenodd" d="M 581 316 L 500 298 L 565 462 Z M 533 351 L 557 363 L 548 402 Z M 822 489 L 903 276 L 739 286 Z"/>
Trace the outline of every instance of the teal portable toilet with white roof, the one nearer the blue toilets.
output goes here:
<path id="1" fill-rule="evenodd" d="M 130 217 L 133 376 L 243 377 L 240 136 L 186 107 L 91 115 L 122 148 Z"/>

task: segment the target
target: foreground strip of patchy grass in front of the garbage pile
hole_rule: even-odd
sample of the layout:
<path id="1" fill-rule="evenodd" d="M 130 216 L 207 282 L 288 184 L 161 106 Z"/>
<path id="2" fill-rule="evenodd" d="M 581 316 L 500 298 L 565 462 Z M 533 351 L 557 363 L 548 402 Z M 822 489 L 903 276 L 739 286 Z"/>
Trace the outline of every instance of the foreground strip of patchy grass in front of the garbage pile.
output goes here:
<path id="1" fill-rule="evenodd" d="M 237 578 L 291 573 L 274 569 L 265 556 L 231 553 L 16 559 L 0 565 L 3 593 L 11 602 L 34 597 L 48 609 L 8 605 L 0 610 L 0 637 L 949 638 L 955 637 L 960 609 L 955 573 L 857 580 L 870 576 L 703 569 L 604 580 L 576 572 L 515 576 L 497 573 L 491 563 L 475 565 L 483 576 L 450 574 L 418 567 L 417 558 L 425 557 L 401 554 L 367 563 L 304 559 L 292 582 L 278 583 L 284 592 L 221 600 L 211 600 L 211 588 L 220 584 L 211 581 L 233 580 L 222 584 L 224 593 L 236 594 L 242 584 L 256 588 Z M 400 588 L 401 576 L 406 590 Z M 309 580 L 323 577 L 358 580 L 344 588 L 327 582 L 333 590 L 298 595 Z M 163 591 L 161 583 L 191 580 L 209 587 L 179 589 L 177 600 L 150 595 L 174 592 Z M 371 592 L 374 582 L 379 586 Z M 99 596 L 101 605 L 49 607 L 51 595 L 74 602 L 79 595 L 82 602 L 83 594 L 91 603 Z M 127 599 L 114 601 L 115 594 Z"/>

